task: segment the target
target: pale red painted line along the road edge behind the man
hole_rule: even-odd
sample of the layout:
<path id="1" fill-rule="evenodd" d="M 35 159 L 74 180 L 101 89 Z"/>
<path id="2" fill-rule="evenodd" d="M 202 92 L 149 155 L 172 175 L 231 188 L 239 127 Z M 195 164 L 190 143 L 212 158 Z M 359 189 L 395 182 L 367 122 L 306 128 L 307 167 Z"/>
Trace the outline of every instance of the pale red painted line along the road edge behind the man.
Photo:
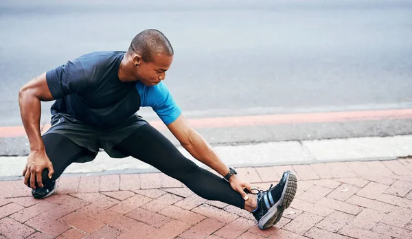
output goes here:
<path id="1" fill-rule="evenodd" d="M 218 117 L 189 120 L 194 128 L 223 128 L 240 126 L 268 126 L 277 124 L 308 124 L 325 122 L 351 122 L 366 120 L 404 120 L 412 119 L 412 109 L 395 109 L 383 111 L 343 111 L 325 113 L 293 113 L 283 115 L 252 115 L 239 117 Z M 165 129 L 160 120 L 150 121 L 159 130 Z M 47 131 L 47 124 L 42 133 Z M 0 137 L 25 136 L 23 126 L 0 127 Z"/>

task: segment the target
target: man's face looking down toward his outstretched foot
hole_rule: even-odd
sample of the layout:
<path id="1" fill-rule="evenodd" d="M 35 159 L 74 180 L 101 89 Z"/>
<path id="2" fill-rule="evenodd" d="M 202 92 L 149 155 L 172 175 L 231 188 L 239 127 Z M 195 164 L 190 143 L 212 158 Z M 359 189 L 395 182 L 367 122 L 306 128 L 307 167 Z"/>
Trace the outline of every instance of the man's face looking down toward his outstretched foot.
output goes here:
<path id="1" fill-rule="evenodd" d="M 172 65 L 173 56 L 159 54 L 154 56 L 152 61 L 145 62 L 143 59 L 139 60 L 137 66 L 137 78 L 148 87 L 159 84 L 161 80 L 165 79 L 166 73 Z"/>

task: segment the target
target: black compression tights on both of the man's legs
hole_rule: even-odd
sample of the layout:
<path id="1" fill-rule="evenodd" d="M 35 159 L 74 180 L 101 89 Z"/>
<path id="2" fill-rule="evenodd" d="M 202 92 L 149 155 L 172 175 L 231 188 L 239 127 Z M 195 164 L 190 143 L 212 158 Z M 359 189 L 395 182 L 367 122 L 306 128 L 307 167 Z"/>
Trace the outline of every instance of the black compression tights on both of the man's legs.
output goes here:
<path id="1" fill-rule="evenodd" d="M 54 166 L 56 180 L 62 172 L 84 150 L 64 136 L 49 134 L 43 136 L 49 159 Z M 208 200 L 221 201 L 244 209 L 244 199 L 229 183 L 215 174 L 198 167 L 158 130 L 146 124 L 115 146 L 127 155 L 135 157 L 157 168 L 168 176 L 181 181 L 190 190 Z M 43 171 L 43 184 L 47 184 L 47 170 Z"/>

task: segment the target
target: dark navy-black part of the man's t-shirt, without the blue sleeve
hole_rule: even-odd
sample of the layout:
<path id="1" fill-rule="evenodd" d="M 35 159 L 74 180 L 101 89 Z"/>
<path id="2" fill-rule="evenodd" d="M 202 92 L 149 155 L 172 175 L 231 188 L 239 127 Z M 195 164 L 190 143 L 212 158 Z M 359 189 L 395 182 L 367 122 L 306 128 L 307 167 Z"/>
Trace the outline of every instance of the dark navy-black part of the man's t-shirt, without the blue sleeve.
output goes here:
<path id="1" fill-rule="evenodd" d="M 136 82 L 121 82 L 125 52 L 93 52 L 47 71 L 49 91 L 56 102 L 52 115 L 108 128 L 124 122 L 140 108 Z"/>

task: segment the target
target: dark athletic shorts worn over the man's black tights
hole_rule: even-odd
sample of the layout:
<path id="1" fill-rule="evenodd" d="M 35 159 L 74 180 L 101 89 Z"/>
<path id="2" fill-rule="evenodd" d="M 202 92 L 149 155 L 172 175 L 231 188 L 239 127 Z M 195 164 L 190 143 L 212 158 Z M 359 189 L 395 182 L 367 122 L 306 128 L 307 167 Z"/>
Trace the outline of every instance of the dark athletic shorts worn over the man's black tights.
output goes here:
<path id="1" fill-rule="evenodd" d="M 84 154 L 76 162 L 84 163 L 92 161 L 98 155 L 99 149 L 102 148 L 110 157 L 123 158 L 128 157 L 119 152 L 113 146 L 122 142 L 126 137 L 131 135 L 137 128 L 148 124 L 141 116 L 134 114 L 126 121 L 112 128 L 98 128 L 83 124 L 79 120 L 70 117 L 70 115 L 52 116 L 52 126 L 44 133 L 56 133 L 64 135 L 78 146 L 87 148 L 89 154 Z"/>

